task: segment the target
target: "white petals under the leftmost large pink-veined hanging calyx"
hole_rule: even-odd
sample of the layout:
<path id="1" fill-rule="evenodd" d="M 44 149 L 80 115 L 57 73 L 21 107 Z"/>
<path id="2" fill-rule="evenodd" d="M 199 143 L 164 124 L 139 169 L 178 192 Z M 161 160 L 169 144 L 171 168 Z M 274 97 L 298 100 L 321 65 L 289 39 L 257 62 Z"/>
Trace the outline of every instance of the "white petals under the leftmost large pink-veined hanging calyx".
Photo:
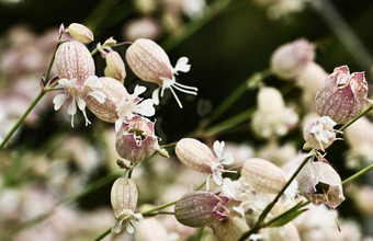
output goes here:
<path id="1" fill-rule="evenodd" d="M 55 111 L 58 111 L 68 99 L 71 99 L 70 105 L 67 110 L 67 114 L 71 115 L 71 126 L 74 127 L 74 116 L 77 114 L 77 105 L 84 115 L 86 126 L 91 124 L 91 122 L 87 118 L 86 101 L 83 99 L 87 95 L 91 95 L 98 102 L 104 103 L 105 95 L 97 90 L 102 87 L 99 78 L 95 76 L 89 77 L 82 87 L 77 84 L 77 79 L 60 79 L 58 83 L 65 88 L 66 93 L 58 94 L 53 99 Z"/>

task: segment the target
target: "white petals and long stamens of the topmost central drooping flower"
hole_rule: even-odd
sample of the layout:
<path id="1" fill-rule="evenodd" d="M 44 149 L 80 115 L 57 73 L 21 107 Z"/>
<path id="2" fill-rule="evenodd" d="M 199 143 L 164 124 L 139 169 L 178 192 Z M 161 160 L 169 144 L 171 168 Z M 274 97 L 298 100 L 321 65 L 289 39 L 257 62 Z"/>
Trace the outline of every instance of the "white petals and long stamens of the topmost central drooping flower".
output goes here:
<path id="1" fill-rule="evenodd" d="M 179 74 L 178 71 L 181 71 L 181 72 L 189 72 L 189 70 L 191 69 L 191 65 L 188 65 L 188 58 L 187 57 L 181 57 L 179 58 L 179 60 L 177 61 L 177 65 L 174 66 L 172 72 L 173 74 Z M 196 95 L 196 91 L 197 89 L 195 87 L 188 87 L 188 85 L 184 85 L 184 84 L 181 84 L 181 83 L 178 83 L 174 79 L 174 76 L 172 76 L 172 79 L 169 79 L 169 78 L 166 78 L 166 77 L 160 77 L 159 78 L 161 81 L 162 81 L 162 85 L 159 87 L 158 89 L 156 89 L 154 92 L 152 92 L 152 101 L 156 105 L 159 104 L 159 90 L 160 91 L 160 96 L 162 97 L 163 96 L 163 93 L 165 93 L 165 90 L 166 89 L 170 89 L 172 95 L 174 96 L 174 99 L 177 100 L 179 106 L 182 108 L 182 104 L 177 95 L 177 93 L 174 92 L 173 89 L 180 91 L 180 92 L 183 92 L 183 93 L 187 93 L 187 94 L 193 94 L 193 95 Z"/>

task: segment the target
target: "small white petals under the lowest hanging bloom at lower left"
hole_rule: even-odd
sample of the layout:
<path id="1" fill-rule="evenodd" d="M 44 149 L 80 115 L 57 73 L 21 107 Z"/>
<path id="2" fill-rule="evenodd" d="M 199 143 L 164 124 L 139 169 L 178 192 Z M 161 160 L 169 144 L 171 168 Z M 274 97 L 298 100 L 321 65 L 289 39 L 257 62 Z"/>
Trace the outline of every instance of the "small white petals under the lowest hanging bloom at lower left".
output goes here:
<path id="1" fill-rule="evenodd" d="M 135 229 L 138 226 L 139 220 L 142 220 L 142 219 L 143 219 L 142 214 L 134 214 L 133 210 L 125 209 L 116 218 L 115 223 L 112 228 L 112 232 L 120 233 L 122 231 L 122 226 L 124 226 L 128 233 L 134 233 Z"/>

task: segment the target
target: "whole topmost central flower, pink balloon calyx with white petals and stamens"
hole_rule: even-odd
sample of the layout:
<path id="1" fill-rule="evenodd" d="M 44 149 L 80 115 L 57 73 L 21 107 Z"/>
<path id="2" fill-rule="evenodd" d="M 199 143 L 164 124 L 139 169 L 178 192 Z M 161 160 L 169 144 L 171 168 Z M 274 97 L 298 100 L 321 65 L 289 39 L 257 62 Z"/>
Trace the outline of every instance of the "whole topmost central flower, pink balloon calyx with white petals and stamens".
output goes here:
<path id="1" fill-rule="evenodd" d="M 150 39 L 139 38 L 128 47 L 126 60 L 138 78 L 159 85 L 152 92 L 152 101 L 156 105 L 159 104 L 159 91 L 160 96 L 163 96 L 166 89 L 170 89 L 180 107 L 182 104 L 174 90 L 196 95 L 196 88 L 176 82 L 174 74 L 178 74 L 178 71 L 188 72 L 190 70 L 191 66 L 188 65 L 187 57 L 181 57 L 176 67 L 172 67 L 168 55 L 158 44 Z"/>

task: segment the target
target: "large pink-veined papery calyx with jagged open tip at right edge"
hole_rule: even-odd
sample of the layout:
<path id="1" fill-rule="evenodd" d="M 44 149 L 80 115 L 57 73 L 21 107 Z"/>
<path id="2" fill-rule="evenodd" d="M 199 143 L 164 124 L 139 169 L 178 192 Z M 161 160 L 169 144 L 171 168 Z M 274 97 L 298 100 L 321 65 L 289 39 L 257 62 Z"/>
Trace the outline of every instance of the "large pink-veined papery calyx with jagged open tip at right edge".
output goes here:
<path id="1" fill-rule="evenodd" d="M 316 111 L 337 124 L 344 124 L 363 110 L 368 95 L 364 72 L 350 74 L 347 66 L 337 67 L 316 93 Z"/>

